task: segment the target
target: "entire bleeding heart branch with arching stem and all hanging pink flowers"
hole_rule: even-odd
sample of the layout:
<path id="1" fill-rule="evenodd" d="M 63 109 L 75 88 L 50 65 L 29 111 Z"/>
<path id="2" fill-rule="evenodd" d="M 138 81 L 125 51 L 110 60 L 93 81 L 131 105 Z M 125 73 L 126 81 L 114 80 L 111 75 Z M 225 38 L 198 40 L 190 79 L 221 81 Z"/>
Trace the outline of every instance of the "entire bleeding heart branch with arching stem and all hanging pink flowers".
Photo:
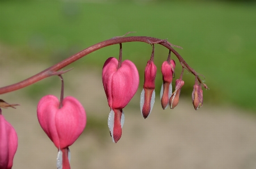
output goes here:
<path id="1" fill-rule="evenodd" d="M 174 109 L 174 107 L 178 105 L 181 88 L 184 86 L 184 81 L 182 80 L 184 69 L 193 73 L 195 76 L 195 85 L 192 93 L 192 101 L 195 110 L 198 110 L 198 108 L 203 106 L 202 85 L 206 89 L 208 89 L 208 87 L 202 82 L 202 80 L 200 80 L 198 76 L 199 74 L 189 67 L 185 60 L 174 49 L 172 49 L 171 46 L 175 45 L 170 44 L 167 40 L 159 40 L 152 37 L 120 36 L 88 47 L 80 53 L 66 59 L 65 62 L 60 62 L 27 80 L 0 88 L 0 94 L 2 94 L 23 88 L 52 75 L 58 75 L 61 78 L 62 85 L 60 99 L 58 100 L 58 98 L 53 95 L 47 95 L 42 97 L 37 105 L 37 118 L 41 128 L 58 149 L 58 169 L 70 169 L 69 146 L 74 144 L 82 134 L 86 127 L 87 118 L 86 111 L 76 98 L 71 96 L 63 97 L 63 79 L 61 75 L 69 70 L 59 72 L 56 72 L 56 70 L 67 66 L 67 64 L 70 64 L 84 55 L 100 49 L 101 47 L 120 43 L 119 59 L 117 60 L 113 57 L 108 58 L 104 63 L 102 72 L 103 87 L 110 107 L 108 127 L 113 142 L 117 142 L 121 138 L 122 127 L 125 121 L 123 109 L 130 102 L 131 98 L 134 97 L 139 86 L 139 73 L 135 64 L 130 60 L 124 60 L 122 62 L 121 43 L 131 41 L 142 41 L 152 44 L 152 54 L 144 71 L 144 84 L 142 93 L 140 94 L 140 111 L 144 119 L 151 114 L 156 96 L 155 79 L 157 68 L 154 64 L 154 44 L 161 44 L 169 49 L 168 58 L 161 66 L 163 84 L 161 85 L 160 101 L 163 109 L 167 109 L 168 106 L 170 106 L 170 109 Z M 175 77 L 174 70 L 176 63 L 173 59 L 170 59 L 171 50 L 176 55 L 182 66 L 181 76 L 176 80 L 174 92 L 172 90 L 172 80 Z M 15 108 L 14 106 L 17 106 L 17 104 L 10 105 L 0 99 L 0 169 L 10 169 L 12 167 L 14 155 L 18 147 L 18 137 L 15 129 L 4 118 L 1 110 L 1 108 L 7 107 Z"/>

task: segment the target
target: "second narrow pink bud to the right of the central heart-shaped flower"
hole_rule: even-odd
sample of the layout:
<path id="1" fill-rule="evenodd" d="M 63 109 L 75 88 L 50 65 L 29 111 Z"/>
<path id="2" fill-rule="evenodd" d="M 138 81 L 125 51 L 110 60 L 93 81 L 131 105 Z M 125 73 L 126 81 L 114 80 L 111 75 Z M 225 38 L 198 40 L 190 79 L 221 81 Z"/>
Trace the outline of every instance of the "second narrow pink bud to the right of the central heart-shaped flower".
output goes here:
<path id="1" fill-rule="evenodd" d="M 172 96 L 172 78 L 175 68 L 175 61 L 170 60 L 170 63 L 165 61 L 162 64 L 161 71 L 163 73 L 163 84 L 161 86 L 160 98 L 163 109 L 166 109 L 169 104 L 170 96 Z"/>

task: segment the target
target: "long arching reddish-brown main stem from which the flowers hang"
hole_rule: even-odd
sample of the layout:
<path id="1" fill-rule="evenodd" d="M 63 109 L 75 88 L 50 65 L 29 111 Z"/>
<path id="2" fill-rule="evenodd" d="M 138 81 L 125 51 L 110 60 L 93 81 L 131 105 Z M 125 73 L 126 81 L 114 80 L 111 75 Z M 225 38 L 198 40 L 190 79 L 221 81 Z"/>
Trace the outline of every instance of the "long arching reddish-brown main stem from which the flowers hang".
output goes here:
<path id="1" fill-rule="evenodd" d="M 145 42 L 147 44 L 155 44 L 158 42 L 160 45 L 163 45 L 164 47 L 167 47 L 167 49 L 172 51 L 172 53 L 174 53 L 176 55 L 176 57 L 178 58 L 180 63 L 183 64 L 187 68 L 187 70 L 189 70 L 191 73 L 193 73 L 195 76 L 197 76 L 199 81 L 201 81 L 200 78 L 198 77 L 198 73 L 195 72 L 195 70 L 193 68 L 191 68 L 185 62 L 185 60 L 180 56 L 180 54 L 178 54 L 177 51 L 171 47 L 173 45 L 170 44 L 170 42 L 168 42 L 166 40 L 160 40 L 159 38 L 146 37 L 146 36 L 114 37 L 109 40 L 99 42 L 98 44 L 87 47 L 86 49 L 80 51 L 79 53 L 76 53 L 76 54 L 72 55 L 71 57 L 69 57 L 65 60 L 62 60 L 61 62 L 55 64 L 54 66 L 49 67 L 46 70 L 44 70 L 40 73 L 37 73 L 36 75 L 34 75 L 32 77 L 29 77 L 28 79 L 20 81 L 19 83 L 15 83 L 15 84 L 0 88 L 0 94 L 12 92 L 14 90 L 24 88 L 25 86 L 31 85 L 33 83 L 36 83 L 37 81 L 44 79 L 45 77 L 56 75 L 56 73 L 54 73 L 54 72 L 60 70 L 63 67 L 66 67 L 67 65 L 71 64 L 72 62 L 75 62 L 76 60 L 88 55 L 89 53 L 92 53 L 95 50 L 99 50 L 99 49 L 109 46 L 109 45 L 121 44 L 121 43 L 125 43 L 125 42 Z"/>

